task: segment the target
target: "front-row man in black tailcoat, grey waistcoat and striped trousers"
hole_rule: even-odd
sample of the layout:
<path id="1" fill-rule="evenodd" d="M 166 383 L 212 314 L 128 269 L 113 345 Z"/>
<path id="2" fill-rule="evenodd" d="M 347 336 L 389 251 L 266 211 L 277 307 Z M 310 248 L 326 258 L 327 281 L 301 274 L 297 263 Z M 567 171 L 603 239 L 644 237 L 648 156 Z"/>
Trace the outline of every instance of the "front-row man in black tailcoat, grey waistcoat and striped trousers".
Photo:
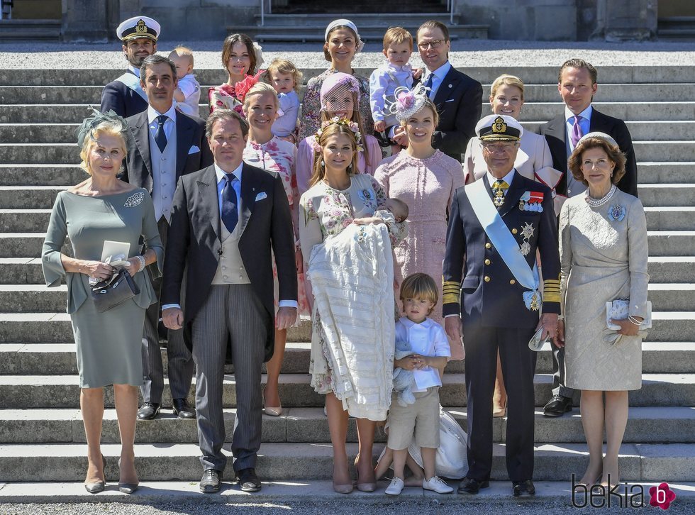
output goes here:
<path id="1" fill-rule="evenodd" d="M 280 176 L 242 161 L 248 123 L 219 109 L 208 117 L 206 133 L 215 164 L 184 175 L 174 197 L 162 318 L 170 329 L 185 328 L 196 362 L 201 492 L 219 491 L 227 463 L 222 392 L 228 340 L 237 399 L 234 470 L 243 491 L 257 492 L 261 365 L 272 357 L 274 327 L 286 329 L 296 320 L 294 233 Z M 274 324 L 272 255 L 280 299 Z"/>

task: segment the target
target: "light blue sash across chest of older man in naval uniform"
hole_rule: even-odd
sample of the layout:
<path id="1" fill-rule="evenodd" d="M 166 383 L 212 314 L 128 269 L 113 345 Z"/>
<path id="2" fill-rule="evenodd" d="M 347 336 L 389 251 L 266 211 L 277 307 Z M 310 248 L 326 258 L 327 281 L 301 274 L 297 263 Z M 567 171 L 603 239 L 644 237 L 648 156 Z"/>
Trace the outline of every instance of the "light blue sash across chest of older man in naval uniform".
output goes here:
<path id="1" fill-rule="evenodd" d="M 530 304 L 533 300 L 533 295 L 538 294 L 539 297 L 536 301 L 540 300 L 540 294 L 538 293 L 538 286 L 540 284 L 538 265 L 534 260 L 533 270 L 528 266 L 526 258 L 523 257 L 521 250 L 519 250 L 516 239 L 511 236 L 502 217 L 499 216 L 497 208 L 492 203 L 492 199 L 490 199 L 489 194 L 487 194 L 483 181 L 484 177 L 465 187 L 468 200 L 473 207 L 473 212 L 478 218 L 480 225 L 483 227 L 488 238 L 490 238 L 492 245 L 494 245 L 497 252 L 502 257 L 504 264 L 507 265 L 508 269 L 514 277 L 516 277 L 519 284 L 531 290 L 523 295 L 526 307 L 531 309 Z"/>

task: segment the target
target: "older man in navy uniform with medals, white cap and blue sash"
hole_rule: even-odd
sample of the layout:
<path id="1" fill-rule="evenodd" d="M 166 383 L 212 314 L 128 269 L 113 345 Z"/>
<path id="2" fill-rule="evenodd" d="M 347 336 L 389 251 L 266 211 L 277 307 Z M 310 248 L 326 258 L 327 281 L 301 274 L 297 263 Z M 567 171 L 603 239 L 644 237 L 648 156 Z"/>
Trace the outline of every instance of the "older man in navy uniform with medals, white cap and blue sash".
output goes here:
<path id="1" fill-rule="evenodd" d="M 511 116 L 482 118 L 476 134 L 487 173 L 452 201 L 444 259 L 443 311 L 450 338 L 464 337 L 468 475 L 459 492 L 489 486 L 492 394 L 501 359 L 509 396 L 506 465 L 513 495 L 533 486 L 534 336 L 552 337 L 560 313 L 560 256 L 550 188 L 514 170 L 521 125 Z M 538 277 L 540 251 L 543 282 Z M 540 290 L 543 290 L 541 296 Z M 540 316 L 539 314 L 543 313 Z M 536 334 L 535 333 L 540 333 Z"/>

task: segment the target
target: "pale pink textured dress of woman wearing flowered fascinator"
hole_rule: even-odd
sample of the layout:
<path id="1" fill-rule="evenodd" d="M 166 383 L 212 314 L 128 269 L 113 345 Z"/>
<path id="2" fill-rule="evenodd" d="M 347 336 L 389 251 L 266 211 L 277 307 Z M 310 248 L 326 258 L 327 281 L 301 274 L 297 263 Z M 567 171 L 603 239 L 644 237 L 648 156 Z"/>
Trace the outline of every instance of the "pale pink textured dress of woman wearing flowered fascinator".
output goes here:
<path id="1" fill-rule="evenodd" d="M 438 306 L 430 318 L 443 325 L 442 273 L 446 250 L 447 211 L 454 192 L 464 185 L 461 163 L 437 150 L 416 159 L 401 150 L 387 157 L 374 173 L 391 199 L 408 204 L 408 236 L 394 248 L 401 277 L 424 272 L 438 285 Z M 451 359 L 462 359 L 462 347 L 450 342 Z"/>

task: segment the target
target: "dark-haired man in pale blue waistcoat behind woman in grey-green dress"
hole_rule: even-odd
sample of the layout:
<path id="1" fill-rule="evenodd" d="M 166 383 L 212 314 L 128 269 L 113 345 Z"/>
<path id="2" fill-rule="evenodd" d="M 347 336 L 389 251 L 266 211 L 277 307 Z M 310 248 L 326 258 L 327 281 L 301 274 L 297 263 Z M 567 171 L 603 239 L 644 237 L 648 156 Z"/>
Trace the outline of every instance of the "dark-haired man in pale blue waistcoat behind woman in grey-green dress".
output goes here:
<path id="1" fill-rule="evenodd" d="M 177 87 L 174 63 L 161 55 L 150 55 L 143 61 L 140 74 L 150 104 L 142 113 L 127 118 L 132 141 L 128 145 L 123 180 L 146 188 L 152 194 L 157 227 L 162 243 L 166 245 L 177 180 L 182 175 L 211 165 L 213 160 L 205 138 L 204 121 L 174 109 L 174 90 Z M 150 277 L 159 298 L 162 281 L 155 279 L 155 275 Z M 164 370 L 157 331 L 159 314 L 159 304 L 152 304 L 145 317 L 145 384 L 142 388 L 143 405 L 138 410 L 140 420 L 154 419 L 162 404 Z M 174 413 L 182 419 L 192 418 L 195 413 L 187 397 L 194 363 L 181 331 L 169 331 L 167 358 Z"/>

